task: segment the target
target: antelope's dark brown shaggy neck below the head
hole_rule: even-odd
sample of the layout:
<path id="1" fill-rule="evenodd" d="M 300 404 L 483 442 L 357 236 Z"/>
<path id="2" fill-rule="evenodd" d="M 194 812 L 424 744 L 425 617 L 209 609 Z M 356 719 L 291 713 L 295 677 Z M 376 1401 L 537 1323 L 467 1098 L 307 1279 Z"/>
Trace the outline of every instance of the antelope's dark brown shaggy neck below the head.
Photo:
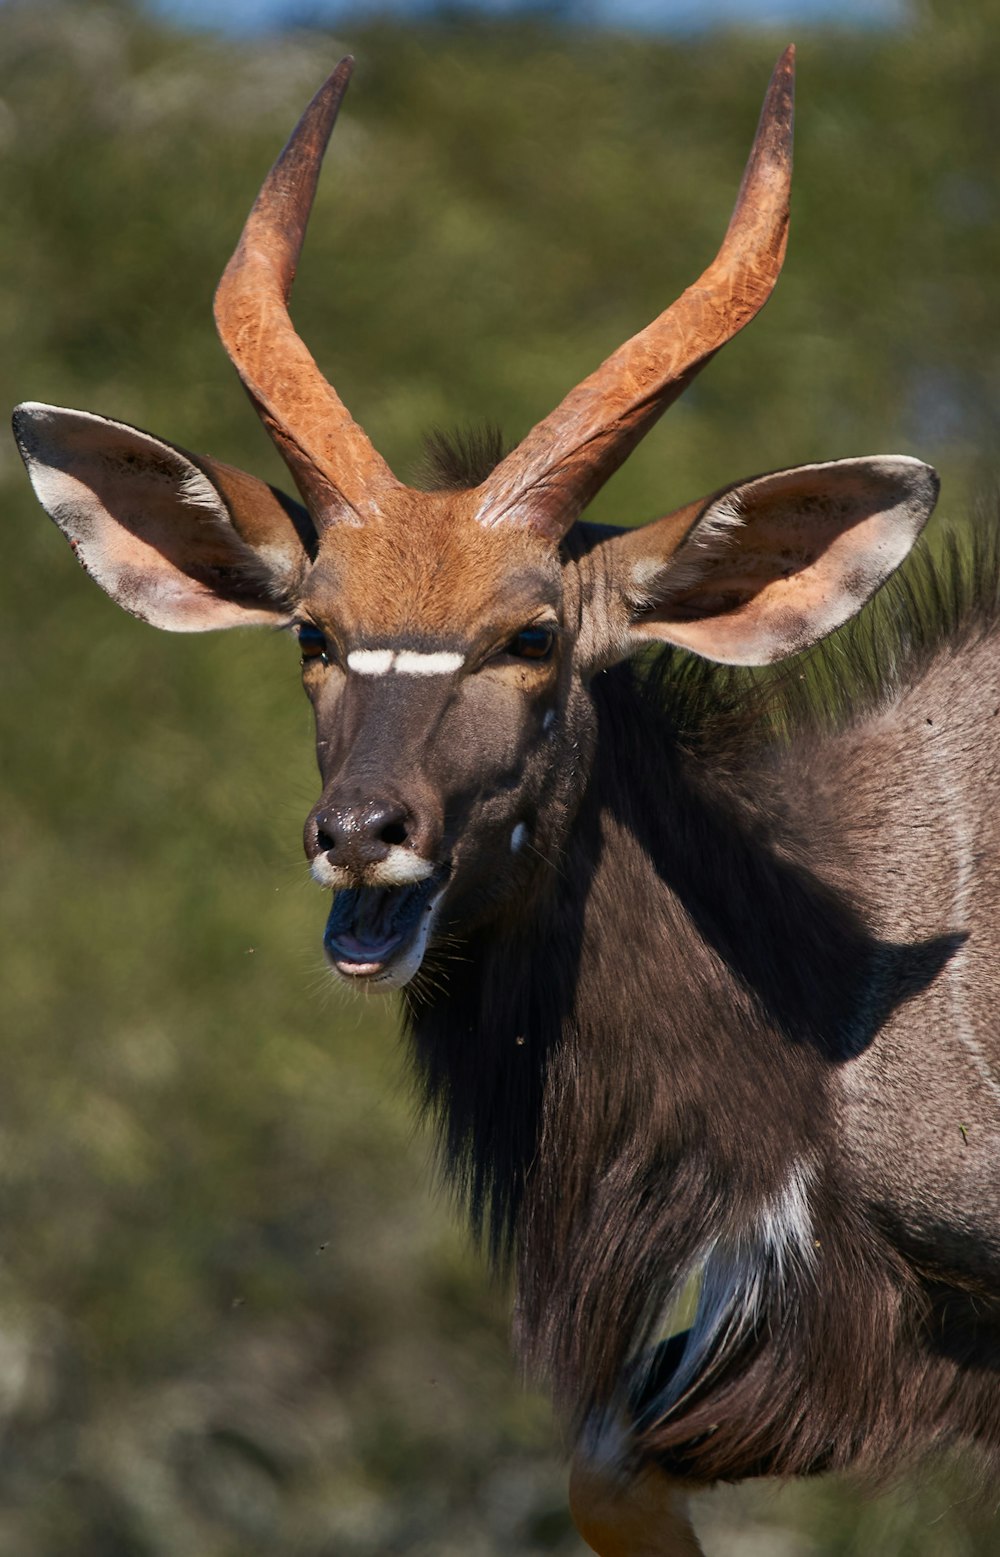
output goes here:
<path id="1" fill-rule="evenodd" d="M 735 749 L 685 749 L 631 671 L 595 707 L 531 922 L 477 936 L 408 1009 L 447 1169 L 517 1266 L 520 1347 L 579 1414 L 712 1249 L 808 1239 L 827 1076 L 880 1020 L 883 950 L 813 869 L 787 761 L 743 741 L 737 782 Z"/>

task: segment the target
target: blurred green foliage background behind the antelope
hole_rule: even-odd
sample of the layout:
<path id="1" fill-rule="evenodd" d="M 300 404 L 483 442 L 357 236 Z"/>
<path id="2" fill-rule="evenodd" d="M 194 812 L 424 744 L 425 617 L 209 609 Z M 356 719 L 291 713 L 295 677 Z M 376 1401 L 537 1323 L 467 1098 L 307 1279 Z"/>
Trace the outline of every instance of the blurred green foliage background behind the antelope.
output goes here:
<path id="1" fill-rule="evenodd" d="M 936 462 L 949 515 L 989 490 L 1000 6 L 796 33 L 785 276 L 607 518 L 872 452 Z M 210 299 L 352 48 L 296 322 L 403 478 L 428 427 L 519 436 L 710 257 L 785 42 L 458 12 L 237 42 L 126 0 L 2 5 L 5 400 L 285 480 Z M 9 442 L 0 480 L 0 1554 L 578 1554 L 393 1010 L 322 967 L 294 646 L 131 621 Z M 712 1557 L 997 1552 L 974 1493 L 958 1464 L 874 1501 L 726 1490 L 698 1518 Z"/>

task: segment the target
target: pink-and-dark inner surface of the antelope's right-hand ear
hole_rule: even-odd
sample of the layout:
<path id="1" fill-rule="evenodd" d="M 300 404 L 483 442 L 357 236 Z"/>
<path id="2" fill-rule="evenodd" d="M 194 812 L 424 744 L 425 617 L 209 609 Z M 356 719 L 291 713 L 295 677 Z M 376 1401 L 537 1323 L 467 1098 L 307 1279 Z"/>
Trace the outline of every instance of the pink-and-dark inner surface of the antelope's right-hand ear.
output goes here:
<path id="1" fill-rule="evenodd" d="M 919 461 L 805 466 L 723 498 L 743 523 L 698 557 L 696 523 L 676 561 L 696 578 L 634 623 L 709 659 L 765 665 L 847 621 L 903 561 L 933 508 L 936 481 Z M 692 553 L 692 556 L 687 556 Z"/>

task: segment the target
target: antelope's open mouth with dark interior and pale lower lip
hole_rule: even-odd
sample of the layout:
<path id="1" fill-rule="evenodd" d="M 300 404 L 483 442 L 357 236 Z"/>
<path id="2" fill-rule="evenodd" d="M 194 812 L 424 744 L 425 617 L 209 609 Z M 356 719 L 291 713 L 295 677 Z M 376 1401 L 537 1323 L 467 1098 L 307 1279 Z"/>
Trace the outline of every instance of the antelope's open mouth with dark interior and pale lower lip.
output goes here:
<path id="1" fill-rule="evenodd" d="M 414 886 L 346 887 L 333 897 L 322 936 L 327 961 L 349 979 L 371 979 L 397 989 L 413 978 L 447 870 L 435 870 Z"/>

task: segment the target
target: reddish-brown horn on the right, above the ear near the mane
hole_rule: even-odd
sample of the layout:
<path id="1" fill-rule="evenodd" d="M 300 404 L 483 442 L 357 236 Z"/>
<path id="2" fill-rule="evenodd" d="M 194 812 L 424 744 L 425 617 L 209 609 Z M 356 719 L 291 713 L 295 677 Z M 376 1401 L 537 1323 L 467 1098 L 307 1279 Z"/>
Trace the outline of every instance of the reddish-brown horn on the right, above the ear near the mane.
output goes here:
<path id="1" fill-rule="evenodd" d="M 794 47 L 768 87 L 735 210 L 693 286 L 618 347 L 483 483 L 478 520 L 561 540 L 696 372 L 765 305 L 785 258 Z"/>

